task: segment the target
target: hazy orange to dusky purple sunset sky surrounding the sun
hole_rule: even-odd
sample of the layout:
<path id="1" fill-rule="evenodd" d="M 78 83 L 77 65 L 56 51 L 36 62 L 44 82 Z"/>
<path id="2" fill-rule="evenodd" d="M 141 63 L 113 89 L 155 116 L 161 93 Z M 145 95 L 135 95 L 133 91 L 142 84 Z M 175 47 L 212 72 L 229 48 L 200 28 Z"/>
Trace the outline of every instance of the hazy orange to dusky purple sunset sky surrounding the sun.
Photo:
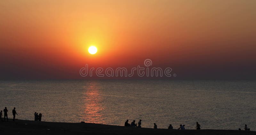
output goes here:
<path id="1" fill-rule="evenodd" d="M 255 0 L 0 1 L 1 80 L 101 79 L 80 69 L 145 59 L 177 76 L 121 78 L 256 79 L 255 52 Z"/>

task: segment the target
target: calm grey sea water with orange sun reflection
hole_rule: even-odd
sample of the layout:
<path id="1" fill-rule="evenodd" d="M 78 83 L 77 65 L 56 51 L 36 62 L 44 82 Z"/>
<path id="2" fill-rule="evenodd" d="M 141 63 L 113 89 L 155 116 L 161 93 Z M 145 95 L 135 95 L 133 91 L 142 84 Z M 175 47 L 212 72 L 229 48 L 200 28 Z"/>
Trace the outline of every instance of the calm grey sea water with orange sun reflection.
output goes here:
<path id="1" fill-rule="evenodd" d="M 1 81 L 0 109 L 16 107 L 18 119 L 81 121 L 142 127 L 256 130 L 256 81 L 65 80 Z"/>

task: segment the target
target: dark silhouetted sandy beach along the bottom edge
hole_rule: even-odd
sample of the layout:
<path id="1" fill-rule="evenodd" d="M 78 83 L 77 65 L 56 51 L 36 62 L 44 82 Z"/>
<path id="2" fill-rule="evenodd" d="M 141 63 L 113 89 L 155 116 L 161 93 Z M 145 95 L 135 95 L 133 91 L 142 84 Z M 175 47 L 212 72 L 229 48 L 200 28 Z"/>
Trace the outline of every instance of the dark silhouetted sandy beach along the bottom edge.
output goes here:
<path id="1" fill-rule="evenodd" d="M 143 126 L 143 125 L 142 125 Z M 153 126 L 152 126 L 153 127 Z M 18 120 L 12 122 L 0 121 L 0 135 L 85 135 L 85 134 L 163 134 L 163 135 L 256 135 L 256 131 L 238 131 L 238 130 L 168 130 L 168 129 L 150 129 L 150 128 L 132 128 L 123 126 L 103 125 L 94 123 L 56 123 L 56 122 L 36 122 L 28 120 Z"/>

